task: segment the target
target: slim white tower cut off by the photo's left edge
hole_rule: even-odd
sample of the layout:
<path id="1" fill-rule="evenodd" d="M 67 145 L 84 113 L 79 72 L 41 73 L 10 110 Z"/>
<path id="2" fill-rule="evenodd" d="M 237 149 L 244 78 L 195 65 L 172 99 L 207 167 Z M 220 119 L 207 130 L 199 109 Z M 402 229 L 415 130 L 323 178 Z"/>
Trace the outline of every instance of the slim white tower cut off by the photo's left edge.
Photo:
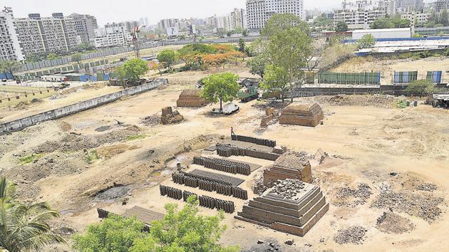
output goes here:
<path id="1" fill-rule="evenodd" d="M 11 8 L 0 12 L 0 61 L 24 61 Z"/>

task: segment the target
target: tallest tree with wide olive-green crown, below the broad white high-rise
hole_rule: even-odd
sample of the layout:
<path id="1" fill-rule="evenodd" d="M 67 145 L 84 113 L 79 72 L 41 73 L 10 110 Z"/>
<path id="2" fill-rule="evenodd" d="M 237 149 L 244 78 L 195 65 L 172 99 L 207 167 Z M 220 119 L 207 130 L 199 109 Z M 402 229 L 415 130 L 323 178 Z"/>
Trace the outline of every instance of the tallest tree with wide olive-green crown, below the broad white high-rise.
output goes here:
<path id="1" fill-rule="evenodd" d="M 302 68 L 306 67 L 313 51 L 307 23 L 293 14 L 275 14 L 267 21 L 262 36 L 267 37 L 264 58 L 287 72 L 293 101 L 294 86 L 305 80 Z"/>

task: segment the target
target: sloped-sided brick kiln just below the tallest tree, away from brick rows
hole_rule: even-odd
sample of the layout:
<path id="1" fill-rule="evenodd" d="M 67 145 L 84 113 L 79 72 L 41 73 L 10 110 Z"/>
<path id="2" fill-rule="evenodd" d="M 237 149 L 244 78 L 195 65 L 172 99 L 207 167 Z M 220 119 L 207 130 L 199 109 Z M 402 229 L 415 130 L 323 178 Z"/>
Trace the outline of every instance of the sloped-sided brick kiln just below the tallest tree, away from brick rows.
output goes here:
<path id="1" fill-rule="evenodd" d="M 312 126 L 319 125 L 324 119 L 323 110 L 318 103 L 311 104 L 291 104 L 282 110 L 279 123 L 282 125 L 301 125 Z"/>

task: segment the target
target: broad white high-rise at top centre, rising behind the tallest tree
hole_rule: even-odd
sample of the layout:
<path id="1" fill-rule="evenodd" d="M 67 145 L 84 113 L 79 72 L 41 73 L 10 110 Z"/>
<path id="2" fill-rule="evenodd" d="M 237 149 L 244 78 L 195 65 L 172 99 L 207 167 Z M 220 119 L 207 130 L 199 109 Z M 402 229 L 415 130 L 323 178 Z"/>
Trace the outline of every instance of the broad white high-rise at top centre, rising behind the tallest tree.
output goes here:
<path id="1" fill-rule="evenodd" d="M 260 31 L 274 14 L 294 14 L 304 20 L 303 0 L 247 0 L 249 31 Z"/>

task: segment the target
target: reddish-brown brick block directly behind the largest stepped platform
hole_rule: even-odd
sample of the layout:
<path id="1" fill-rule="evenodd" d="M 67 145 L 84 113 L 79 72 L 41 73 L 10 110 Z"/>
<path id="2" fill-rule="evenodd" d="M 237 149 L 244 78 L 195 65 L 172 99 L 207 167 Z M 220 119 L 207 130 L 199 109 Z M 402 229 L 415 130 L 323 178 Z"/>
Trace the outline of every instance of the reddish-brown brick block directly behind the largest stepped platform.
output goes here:
<path id="1" fill-rule="evenodd" d="M 268 187 L 284 179 L 299 179 L 302 182 L 311 183 L 311 166 L 308 157 L 297 152 L 287 152 L 282 154 L 272 167 L 264 171 L 264 184 Z"/>

